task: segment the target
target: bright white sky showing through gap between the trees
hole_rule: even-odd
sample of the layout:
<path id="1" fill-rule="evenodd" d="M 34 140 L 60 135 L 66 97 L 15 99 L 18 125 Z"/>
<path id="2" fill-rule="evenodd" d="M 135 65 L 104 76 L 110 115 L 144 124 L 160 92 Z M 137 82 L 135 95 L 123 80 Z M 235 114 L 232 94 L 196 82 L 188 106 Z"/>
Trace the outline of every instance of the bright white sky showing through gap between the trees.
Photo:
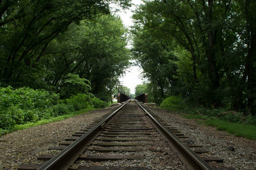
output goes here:
<path id="1" fill-rule="evenodd" d="M 141 4 L 142 1 L 140 0 L 132 0 L 132 3 L 135 5 Z M 115 6 L 116 7 L 116 6 Z M 114 8 L 115 8 L 114 7 Z M 129 26 L 133 25 L 132 22 L 132 10 L 135 10 L 136 6 L 132 5 L 129 10 L 120 10 L 120 12 L 116 12 L 116 15 L 119 15 L 120 18 L 123 20 L 124 26 L 129 28 Z M 125 70 L 124 77 L 120 77 L 119 81 L 122 85 L 126 86 L 127 88 L 131 89 L 131 93 L 135 93 L 135 87 L 138 84 L 143 84 L 143 79 L 141 79 L 140 75 L 142 69 L 139 66 L 131 66 L 127 70 Z"/>

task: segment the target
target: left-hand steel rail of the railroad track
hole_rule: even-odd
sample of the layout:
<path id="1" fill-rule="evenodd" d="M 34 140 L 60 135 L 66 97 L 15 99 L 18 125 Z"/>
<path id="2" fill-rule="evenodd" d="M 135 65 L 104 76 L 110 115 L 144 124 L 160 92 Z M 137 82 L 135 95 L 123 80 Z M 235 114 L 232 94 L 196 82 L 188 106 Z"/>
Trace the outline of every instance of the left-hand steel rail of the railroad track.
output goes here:
<path id="1" fill-rule="evenodd" d="M 70 144 L 65 148 L 63 151 L 58 153 L 55 157 L 52 157 L 49 161 L 47 161 L 42 166 L 38 167 L 38 170 L 46 170 L 46 169 L 67 169 L 68 165 L 71 164 L 71 162 L 76 161 L 76 157 L 74 155 L 77 155 L 77 153 L 81 152 L 81 148 L 84 147 L 83 145 L 86 145 L 86 142 L 92 139 L 93 134 L 99 132 L 99 130 L 108 123 L 115 114 L 122 109 L 130 100 L 125 102 L 121 107 L 116 109 L 116 111 L 112 112 L 108 117 L 106 117 L 104 120 L 100 121 L 95 127 L 91 128 L 88 132 L 83 134 L 79 139 L 74 141 L 74 143 Z M 82 151 L 83 152 L 83 151 Z M 74 157 L 73 160 L 70 160 L 70 157 Z"/>

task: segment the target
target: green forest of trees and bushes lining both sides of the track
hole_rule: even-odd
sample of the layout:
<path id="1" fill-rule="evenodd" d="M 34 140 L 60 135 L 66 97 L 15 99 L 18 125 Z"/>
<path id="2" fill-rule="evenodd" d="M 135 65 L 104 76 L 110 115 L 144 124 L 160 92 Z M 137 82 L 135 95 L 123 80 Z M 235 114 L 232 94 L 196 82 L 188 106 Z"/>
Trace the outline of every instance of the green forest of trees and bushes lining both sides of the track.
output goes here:
<path id="1" fill-rule="evenodd" d="M 135 94 L 124 84 L 127 95 L 203 116 L 230 111 L 223 120 L 256 125 L 256 1 L 143 1 L 130 29 L 113 14 L 129 7 L 0 1 L 0 134 L 106 107 L 131 61 L 147 82 Z"/>

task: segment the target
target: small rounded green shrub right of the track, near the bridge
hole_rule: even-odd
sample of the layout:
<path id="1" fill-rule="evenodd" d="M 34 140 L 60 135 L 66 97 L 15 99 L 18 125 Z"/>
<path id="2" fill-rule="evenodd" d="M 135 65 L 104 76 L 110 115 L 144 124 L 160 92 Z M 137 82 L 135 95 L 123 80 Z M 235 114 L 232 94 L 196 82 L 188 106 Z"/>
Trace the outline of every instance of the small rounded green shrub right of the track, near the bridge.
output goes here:
<path id="1" fill-rule="evenodd" d="M 183 109 L 182 98 L 177 97 L 177 96 L 172 96 L 172 97 L 165 98 L 160 106 L 162 108 L 172 109 L 172 110 Z"/>

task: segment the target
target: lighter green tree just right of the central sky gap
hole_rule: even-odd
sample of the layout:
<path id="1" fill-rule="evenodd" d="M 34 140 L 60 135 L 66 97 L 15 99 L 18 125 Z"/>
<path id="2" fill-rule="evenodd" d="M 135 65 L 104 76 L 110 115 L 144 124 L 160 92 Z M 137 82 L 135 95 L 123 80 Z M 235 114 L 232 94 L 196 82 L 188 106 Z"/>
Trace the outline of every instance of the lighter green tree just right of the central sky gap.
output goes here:
<path id="1" fill-rule="evenodd" d="M 143 19 L 145 15 L 135 15 L 134 19 Z M 143 22 L 143 21 L 141 21 Z M 173 61 L 170 36 L 165 36 L 151 27 L 141 27 L 137 24 L 133 27 L 132 54 L 143 68 L 144 76 L 151 82 L 154 102 L 160 104 L 169 93 L 169 89 L 175 84 L 174 76 L 177 69 Z"/>

